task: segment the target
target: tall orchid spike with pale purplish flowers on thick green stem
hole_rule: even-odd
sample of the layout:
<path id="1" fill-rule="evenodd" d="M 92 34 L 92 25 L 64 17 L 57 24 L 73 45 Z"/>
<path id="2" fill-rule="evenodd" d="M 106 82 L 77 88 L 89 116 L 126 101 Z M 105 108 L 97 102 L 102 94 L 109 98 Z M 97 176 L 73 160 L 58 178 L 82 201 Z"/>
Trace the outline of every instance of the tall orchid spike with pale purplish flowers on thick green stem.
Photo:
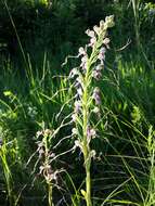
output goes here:
<path id="1" fill-rule="evenodd" d="M 96 137 L 96 130 L 91 120 L 92 114 L 100 113 L 101 92 L 95 87 L 95 81 L 102 77 L 104 68 L 105 52 L 109 49 L 109 39 L 107 38 L 107 29 L 114 26 L 114 16 L 105 17 L 100 22 L 100 26 L 94 26 L 93 30 L 88 29 L 86 34 L 90 37 L 90 41 L 85 48 L 79 48 L 78 57 L 80 57 L 80 66 L 73 68 L 69 78 L 74 79 L 76 95 L 74 101 L 73 136 L 76 138 L 75 147 L 79 147 L 83 154 L 86 169 L 86 191 L 81 193 L 86 199 L 87 206 L 92 206 L 91 199 L 91 159 L 95 156 L 95 151 L 91 150 L 90 142 Z"/>

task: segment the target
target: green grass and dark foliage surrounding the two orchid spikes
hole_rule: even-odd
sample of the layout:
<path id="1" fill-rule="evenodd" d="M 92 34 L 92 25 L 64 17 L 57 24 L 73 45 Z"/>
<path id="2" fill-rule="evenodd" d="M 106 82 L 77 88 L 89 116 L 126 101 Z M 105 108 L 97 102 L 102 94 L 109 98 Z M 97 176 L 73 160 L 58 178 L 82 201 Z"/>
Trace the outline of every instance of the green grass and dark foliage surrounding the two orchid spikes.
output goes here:
<path id="1" fill-rule="evenodd" d="M 46 183 L 35 168 L 38 156 L 27 166 L 37 150 L 36 132 L 42 123 L 46 128 L 57 128 L 70 114 L 73 93 L 65 76 L 77 62 L 69 60 L 64 67 L 62 63 L 87 42 L 85 30 L 111 14 L 116 25 L 109 30 L 111 49 L 99 85 L 103 119 L 100 138 L 92 143 L 98 152 L 92 166 L 93 202 L 153 205 L 154 1 L 0 0 L 1 205 L 9 203 L 9 191 L 16 205 L 47 204 Z M 62 115 L 56 118 L 62 105 Z M 70 126 L 61 129 L 51 150 L 70 130 Z M 54 152 L 61 154 L 69 146 L 74 146 L 72 139 Z M 67 171 L 59 177 L 61 188 L 54 189 L 55 205 L 83 205 L 81 165 L 78 151 L 54 163 L 54 169 Z"/>

